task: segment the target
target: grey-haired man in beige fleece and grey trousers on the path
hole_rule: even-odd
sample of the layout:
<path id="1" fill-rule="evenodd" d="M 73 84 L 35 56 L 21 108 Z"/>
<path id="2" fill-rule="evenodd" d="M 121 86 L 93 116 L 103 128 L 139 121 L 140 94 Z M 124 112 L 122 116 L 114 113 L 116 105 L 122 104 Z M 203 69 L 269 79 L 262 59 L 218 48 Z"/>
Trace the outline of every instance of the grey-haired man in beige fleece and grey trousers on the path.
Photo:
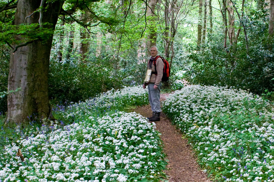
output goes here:
<path id="1" fill-rule="evenodd" d="M 152 110 L 152 117 L 149 117 L 149 121 L 160 121 L 161 107 L 160 107 L 160 88 L 161 80 L 163 76 L 163 67 L 164 63 L 159 57 L 156 60 L 156 69 L 154 65 L 154 59 L 158 56 L 158 49 L 156 46 L 151 46 L 149 49 L 150 59 L 147 63 L 148 69 L 152 69 L 151 77 L 148 83 L 148 92 L 149 92 L 149 104 Z M 143 88 L 146 88 L 146 84 L 143 84 Z"/>

